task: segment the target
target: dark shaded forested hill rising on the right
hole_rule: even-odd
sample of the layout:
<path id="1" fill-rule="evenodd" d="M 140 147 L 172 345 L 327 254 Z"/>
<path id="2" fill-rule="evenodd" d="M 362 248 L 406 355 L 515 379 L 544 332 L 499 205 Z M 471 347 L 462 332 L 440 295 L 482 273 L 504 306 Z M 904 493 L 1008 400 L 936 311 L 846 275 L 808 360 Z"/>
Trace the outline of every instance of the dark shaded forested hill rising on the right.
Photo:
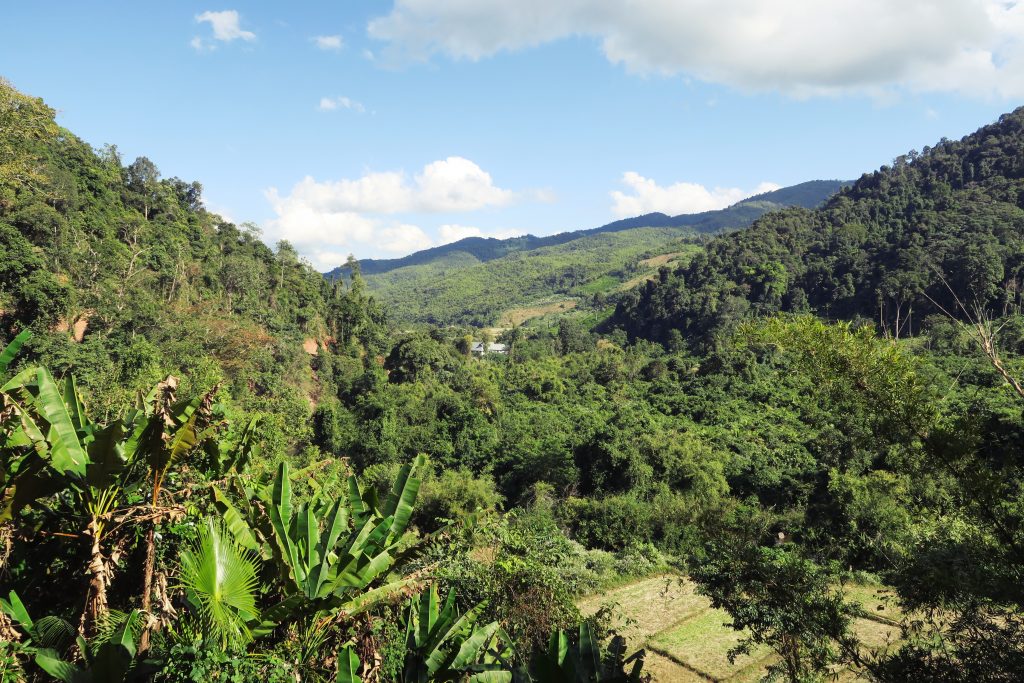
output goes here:
<path id="1" fill-rule="evenodd" d="M 748 312 L 876 321 L 894 336 L 931 313 L 1006 310 L 1024 268 L 1024 109 L 861 176 L 818 210 L 768 214 L 663 270 L 612 323 L 698 343 Z"/>

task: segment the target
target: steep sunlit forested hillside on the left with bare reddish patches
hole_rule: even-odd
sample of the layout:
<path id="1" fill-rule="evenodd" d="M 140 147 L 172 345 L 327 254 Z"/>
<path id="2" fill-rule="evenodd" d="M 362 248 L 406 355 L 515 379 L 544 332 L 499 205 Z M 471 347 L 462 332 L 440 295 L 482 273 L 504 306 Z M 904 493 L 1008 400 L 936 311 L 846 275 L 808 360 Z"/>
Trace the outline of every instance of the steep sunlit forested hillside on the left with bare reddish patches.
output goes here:
<path id="1" fill-rule="evenodd" d="M 171 373 L 183 392 L 225 381 L 237 407 L 267 409 L 274 450 L 301 443 L 317 391 L 303 341 L 373 346 L 380 311 L 201 195 L 0 81 L 0 328 L 33 329 L 25 357 L 74 372 L 100 414 Z"/>

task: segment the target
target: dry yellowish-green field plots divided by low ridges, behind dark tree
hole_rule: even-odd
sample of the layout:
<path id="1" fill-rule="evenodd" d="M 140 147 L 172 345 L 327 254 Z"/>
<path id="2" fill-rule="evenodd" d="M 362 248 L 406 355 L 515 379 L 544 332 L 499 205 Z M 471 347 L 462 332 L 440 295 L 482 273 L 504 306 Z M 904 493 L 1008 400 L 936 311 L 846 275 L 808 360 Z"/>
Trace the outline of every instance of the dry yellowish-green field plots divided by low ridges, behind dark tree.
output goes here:
<path id="1" fill-rule="evenodd" d="M 847 586 L 847 594 L 861 603 L 869 618 L 854 623 L 854 632 L 872 650 L 891 647 L 899 639 L 901 616 L 893 593 L 885 587 Z M 750 683 L 759 680 L 774 654 L 755 648 L 730 663 L 728 651 L 740 634 L 728 626 L 729 616 L 712 609 L 708 598 L 697 595 L 693 584 L 678 575 L 660 575 L 617 588 L 580 603 L 584 615 L 612 605 L 631 650 L 647 650 L 644 670 L 655 681 L 680 683 L 721 681 Z M 854 680 L 844 672 L 840 680 Z"/>

